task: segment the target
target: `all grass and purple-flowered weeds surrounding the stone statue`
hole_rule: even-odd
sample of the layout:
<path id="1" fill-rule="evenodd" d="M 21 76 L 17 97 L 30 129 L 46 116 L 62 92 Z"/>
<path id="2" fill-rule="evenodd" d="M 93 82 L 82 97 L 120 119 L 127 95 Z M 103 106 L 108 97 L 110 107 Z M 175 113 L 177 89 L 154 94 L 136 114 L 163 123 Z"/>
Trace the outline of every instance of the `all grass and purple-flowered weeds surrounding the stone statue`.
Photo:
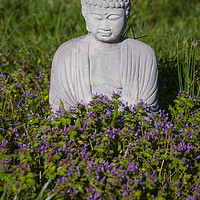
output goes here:
<path id="1" fill-rule="evenodd" d="M 118 93 L 54 116 L 52 56 L 87 33 L 80 2 L 1 0 L 1 200 L 199 198 L 200 3 L 132 5 L 125 35 L 151 45 L 159 63 L 154 121 L 148 105 L 127 105 Z"/>

